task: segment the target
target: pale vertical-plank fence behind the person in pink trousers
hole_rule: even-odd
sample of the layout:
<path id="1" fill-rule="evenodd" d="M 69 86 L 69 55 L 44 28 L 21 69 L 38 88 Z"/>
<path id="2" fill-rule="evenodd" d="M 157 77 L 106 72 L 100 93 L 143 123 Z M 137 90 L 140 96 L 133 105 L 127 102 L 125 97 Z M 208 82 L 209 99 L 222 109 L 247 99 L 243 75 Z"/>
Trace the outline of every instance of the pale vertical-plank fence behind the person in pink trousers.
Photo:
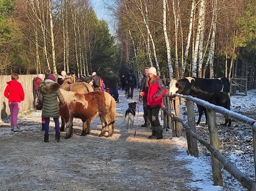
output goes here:
<path id="1" fill-rule="evenodd" d="M 20 111 L 23 112 L 29 109 L 34 108 L 36 104 L 36 95 L 33 93 L 33 79 L 37 75 L 19 75 L 18 82 L 21 83 L 24 93 L 25 93 L 25 100 L 20 104 Z M 7 118 L 10 116 L 10 109 L 8 106 L 8 99 L 4 96 L 4 90 L 7 86 L 6 82 L 11 80 L 11 76 L 0 75 L 0 108 L 1 108 L 1 115 L 0 119 Z"/>

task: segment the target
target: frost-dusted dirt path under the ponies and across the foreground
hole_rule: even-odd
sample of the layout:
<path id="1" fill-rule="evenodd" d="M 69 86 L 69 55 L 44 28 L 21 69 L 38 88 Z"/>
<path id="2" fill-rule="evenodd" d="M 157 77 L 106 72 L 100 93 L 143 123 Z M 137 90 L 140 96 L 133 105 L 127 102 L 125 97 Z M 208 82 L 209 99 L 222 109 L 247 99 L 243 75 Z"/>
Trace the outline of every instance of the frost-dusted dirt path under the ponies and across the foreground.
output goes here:
<path id="1" fill-rule="evenodd" d="M 122 101 L 122 98 L 120 98 Z M 127 102 L 127 100 L 123 101 Z M 121 103 L 119 103 L 121 105 Z M 8 120 L 0 125 L 0 190 L 76 191 L 186 191 L 190 172 L 175 142 L 164 132 L 163 140 L 148 140 L 150 128 L 125 128 L 123 108 L 118 108 L 112 138 L 99 138 L 100 120 L 92 122 L 91 134 L 81 137 L 81 122 L 74 121 L 69 140 L 61 133 L 54 141 L 53 122 L 49 143 L 43 142 L 40 111 L 19 116 L 23 132 L 11 133 Z"/>

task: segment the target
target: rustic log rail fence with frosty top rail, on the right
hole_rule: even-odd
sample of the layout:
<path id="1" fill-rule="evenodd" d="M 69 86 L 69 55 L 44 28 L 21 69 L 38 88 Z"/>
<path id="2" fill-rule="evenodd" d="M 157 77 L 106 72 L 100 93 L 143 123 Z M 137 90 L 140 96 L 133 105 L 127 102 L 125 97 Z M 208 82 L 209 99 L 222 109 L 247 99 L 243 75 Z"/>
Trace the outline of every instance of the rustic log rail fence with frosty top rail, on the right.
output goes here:
<path id="1" fill-rule="evenodd" d="M 256 183 L 249 177 L 247 177 L 244 173 L 239 171 L 227 158 L 225 158 L 219 152 L 219 138 L 218 138 L 218 129 L 216 123 L 215 112 L 227 115 L 231 118 L 244 122 L 252 126 L 253 133 L 253 147 L 254 147 L 254 170 L 256 174 L 256 120 L 249 118 L 247 116 L 238 114 L 236 112 L 232 112 L 220 106 L 215 106 L 210 104 L 204 100 L 200 100 L 198 98 L 194 98 L 192 96 L 184 96 L 179 94 L 174 94 L 173 97 L 164 97 L 164 107 L 161 109 L 164 111 L 164 127 L 173 129 L 173 136 L 176 135 L 181 136 L 180 134 L 180 126 L 177 124 L 180 123 L 186 129 L 186 138 L 188 142 L 188 154 L 191 154 L 194 157 L 198 157 L 198 146 L 197 141 L 206 146 L 206 149 L 211 152 L 211 160 L 212 160 L 212 177 L 214 185 L 223 185 L 222 182 L 222 173 L 220 163 L 222 163 L 224 169 L 228 171 L 233 177 L 235 177 L 243 187 L 250 191 L 256 191 Z M 174 104 L 173 102 L 179 103 L 179 98 L 185 98 L 187 100 L 187 110 L 188 110 L 188 125 L 180 119 L 175 114 L 172 114 L 170 108 L 174 108 L 178 110 L 178 114 L 180 111 L 179 104 Z M 171 100 L 171 101 L 170 101 Z M 202 137 L 196 134 L 196 122 L 194 115 L 194 102 L 204 106 L 207 109 L 207 120 L 208 120 L 208 130 L 210 135 L 210 143 L 206 142 Z M 171 116 L 171 118 L 169 117 Z M 170 120 L 170 122 L 168 122 Z M 174 125 L 173 122 L 176 122 Z M 170 126 L 169 126 L 169 125 Z M 178 130 L 178 132 L 177 132 Z"/>

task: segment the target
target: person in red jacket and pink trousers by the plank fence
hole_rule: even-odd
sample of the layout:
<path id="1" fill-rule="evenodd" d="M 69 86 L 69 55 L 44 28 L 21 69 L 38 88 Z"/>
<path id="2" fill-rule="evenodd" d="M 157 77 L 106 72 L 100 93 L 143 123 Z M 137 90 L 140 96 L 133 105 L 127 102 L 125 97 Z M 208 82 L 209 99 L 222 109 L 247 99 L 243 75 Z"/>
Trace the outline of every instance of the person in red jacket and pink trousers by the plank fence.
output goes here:
<path id="1" fill-rule="evenodd" d="M 7 82 L 4 90 L 4 96 L 9 100 L 9 108 L 11 113 L 11 131 L 22 131 L 17 126 L 17 116 L 20 109 L 20 102 L 24 100 L 24 91 L 22 85 L 18 82 L 18 74 L 12 75 L 12 80 Z"/>

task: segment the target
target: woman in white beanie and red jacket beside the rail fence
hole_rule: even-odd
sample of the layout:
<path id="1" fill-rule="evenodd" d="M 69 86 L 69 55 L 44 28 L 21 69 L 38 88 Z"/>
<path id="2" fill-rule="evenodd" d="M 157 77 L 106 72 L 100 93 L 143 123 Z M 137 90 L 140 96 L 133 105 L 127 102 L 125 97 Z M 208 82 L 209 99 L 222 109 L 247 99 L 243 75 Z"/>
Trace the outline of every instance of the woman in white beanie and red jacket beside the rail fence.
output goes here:
<path id="1" fill-rule="evenodd" d="M 158 114 L 160 107 L 163 106 L 162 96 L 167 93 L 167 89 L 161 79 L 156 75 L 156 68 L 150 67 L 148 69 L 148 76 L 146 78 L 146 86 L 148 87 L 147 92 L 141 92 L 140 96 L 148 98 L 148 114 L 150 124 L 152 126 L 152 135 L 150 139 L 162 139 L 163 130 L 160 125 Z"/>

